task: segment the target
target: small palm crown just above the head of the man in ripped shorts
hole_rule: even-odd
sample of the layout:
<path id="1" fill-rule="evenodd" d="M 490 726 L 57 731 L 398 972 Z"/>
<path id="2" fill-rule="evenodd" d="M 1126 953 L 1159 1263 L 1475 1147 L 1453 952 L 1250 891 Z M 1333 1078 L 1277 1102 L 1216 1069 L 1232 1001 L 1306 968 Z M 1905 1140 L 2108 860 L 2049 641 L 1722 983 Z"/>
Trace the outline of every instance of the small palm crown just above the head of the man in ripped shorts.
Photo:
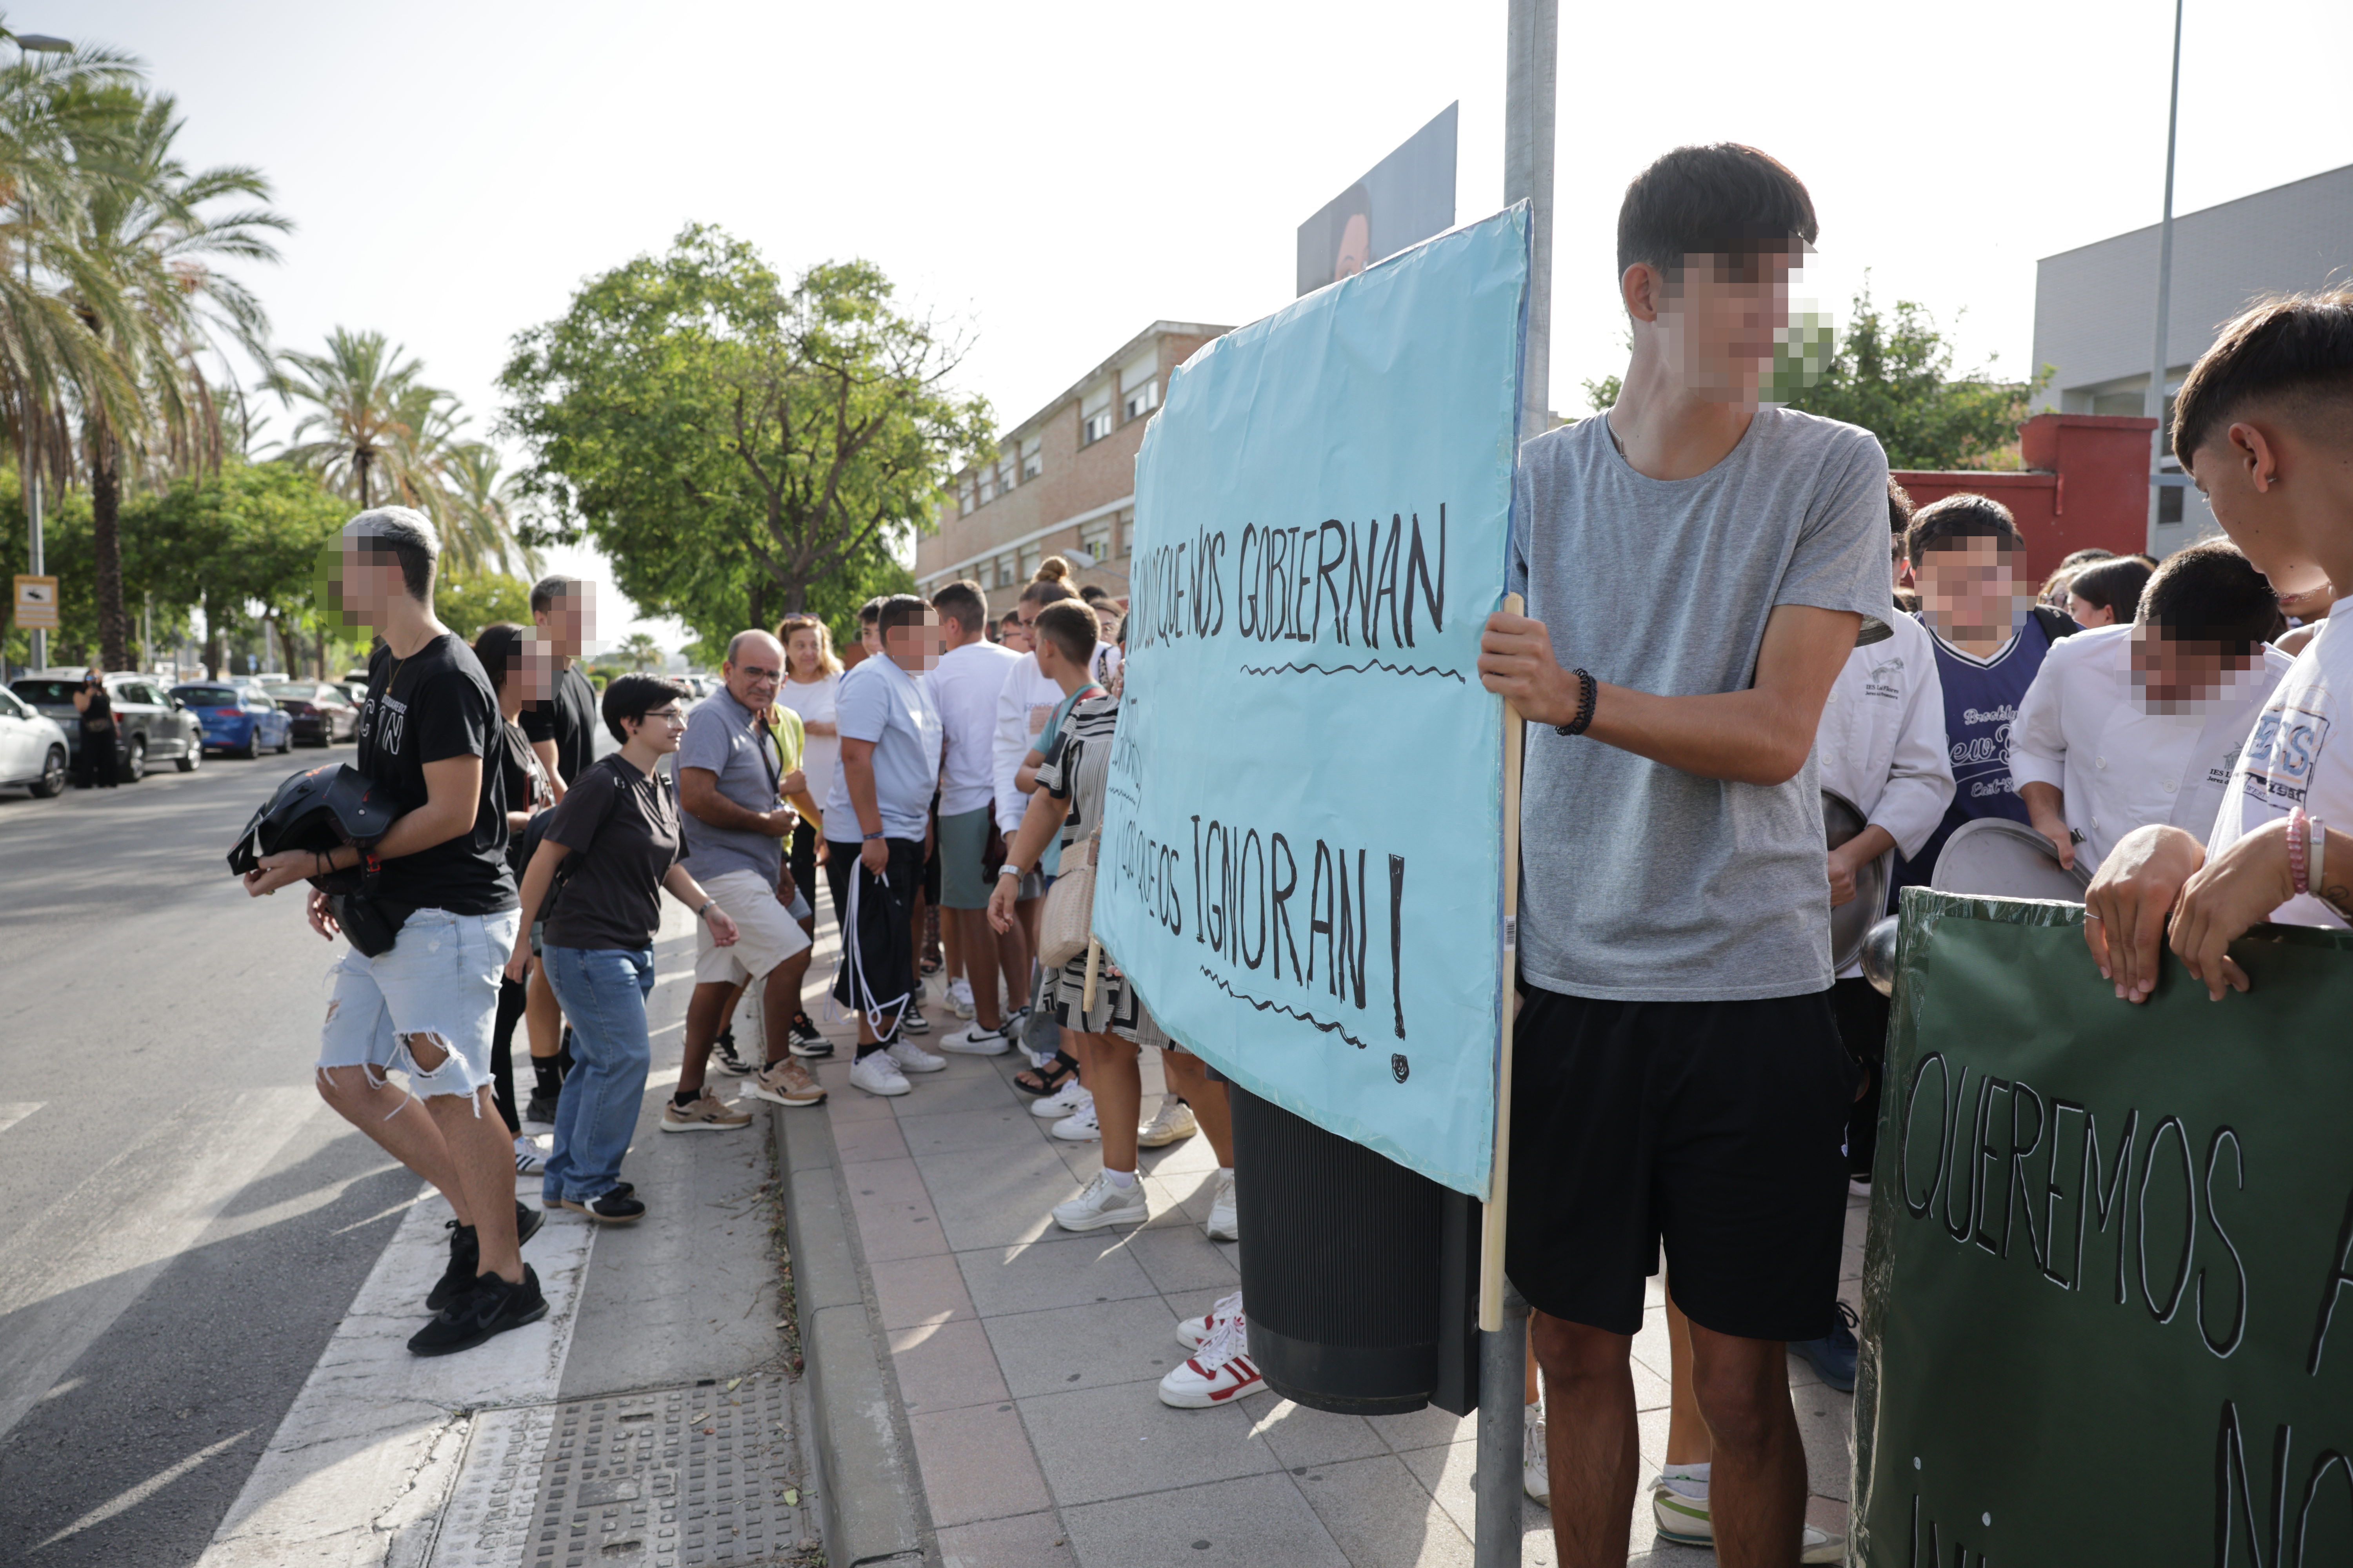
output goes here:
<path id="1" fill-rule="evenodd" d="M 386 496 L 426 491 L 431 473 L 412 473 L 416 425 L 431 423 L 449 395 L 426 386 L 424 364 L 402 355 L 407 350 L 386 343 L 381 331 L 346 327 L 327 334 L 322 355 L 278 355 L 271 388 L 287 407 L 301 402 L 311 409 L 278 456 L 315 468 L 329 489 L 362 510 Z"/>

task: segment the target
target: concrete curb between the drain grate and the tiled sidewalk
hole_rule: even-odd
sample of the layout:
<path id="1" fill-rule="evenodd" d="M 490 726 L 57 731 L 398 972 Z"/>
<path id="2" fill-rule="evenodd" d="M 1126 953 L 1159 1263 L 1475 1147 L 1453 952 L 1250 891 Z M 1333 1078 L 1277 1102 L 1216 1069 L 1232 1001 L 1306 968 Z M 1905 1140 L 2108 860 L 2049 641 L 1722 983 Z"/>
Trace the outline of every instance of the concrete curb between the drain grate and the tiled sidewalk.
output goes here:
<path id="1" fill-rule="evenodd" d="M 939 1568 L 889 1340 L 824 1110 L 769 1105 L 784 1173 L 793 1302 L 816 1439 L 816 1514 L 828 1568 Z"/>

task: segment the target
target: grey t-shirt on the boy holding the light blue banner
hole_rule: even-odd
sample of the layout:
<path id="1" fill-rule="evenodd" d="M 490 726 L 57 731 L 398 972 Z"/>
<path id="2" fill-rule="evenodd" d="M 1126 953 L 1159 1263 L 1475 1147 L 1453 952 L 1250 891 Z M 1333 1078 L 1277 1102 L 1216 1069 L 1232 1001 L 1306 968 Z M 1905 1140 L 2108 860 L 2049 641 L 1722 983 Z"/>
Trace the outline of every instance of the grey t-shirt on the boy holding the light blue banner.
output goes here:
<path id="1" fill-rule="evenodd" d="M 1649 480 L 1593 416 L 1520 447 L 1511 576 L 1562 668 L 1744 691 L 1777 604 L 1892 614 L 1887 456 L 1868 430 L 1765 407 L 1708 473 Z M 1529 724 L 1520 969 L 1605 1001 L 1828 990 L 1824 853 L 1812 755 L 1746 785 Z"/>

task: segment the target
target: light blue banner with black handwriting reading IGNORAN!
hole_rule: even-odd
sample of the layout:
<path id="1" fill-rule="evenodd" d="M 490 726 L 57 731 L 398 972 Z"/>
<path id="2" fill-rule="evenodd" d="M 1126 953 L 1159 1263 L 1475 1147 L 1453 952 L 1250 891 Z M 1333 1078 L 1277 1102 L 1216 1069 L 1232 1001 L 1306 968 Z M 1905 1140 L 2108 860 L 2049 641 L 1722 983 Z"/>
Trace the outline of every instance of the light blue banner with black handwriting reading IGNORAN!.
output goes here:
<path id="1" fill-rule="evenodd" d="M 1233 331 L 1136 454 L 1094 929 L 1188 1051 L 1487 1192 L 1527 214 Z"/>

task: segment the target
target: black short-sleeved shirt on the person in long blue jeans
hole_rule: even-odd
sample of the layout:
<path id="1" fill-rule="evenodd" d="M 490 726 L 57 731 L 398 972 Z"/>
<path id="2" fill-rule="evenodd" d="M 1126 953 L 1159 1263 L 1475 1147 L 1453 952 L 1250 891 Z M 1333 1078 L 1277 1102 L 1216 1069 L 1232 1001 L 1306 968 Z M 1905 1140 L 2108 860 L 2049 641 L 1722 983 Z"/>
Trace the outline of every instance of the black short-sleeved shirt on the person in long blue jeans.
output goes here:
<path id="1" fill-rule="evenodd" d="M 661 879 L 678 860 L 671 785 L 619 752 L 581 773 L 548 816 L 548 842 L 572 851 L 541 943 L 548 947 L 654 945 Z"/>

